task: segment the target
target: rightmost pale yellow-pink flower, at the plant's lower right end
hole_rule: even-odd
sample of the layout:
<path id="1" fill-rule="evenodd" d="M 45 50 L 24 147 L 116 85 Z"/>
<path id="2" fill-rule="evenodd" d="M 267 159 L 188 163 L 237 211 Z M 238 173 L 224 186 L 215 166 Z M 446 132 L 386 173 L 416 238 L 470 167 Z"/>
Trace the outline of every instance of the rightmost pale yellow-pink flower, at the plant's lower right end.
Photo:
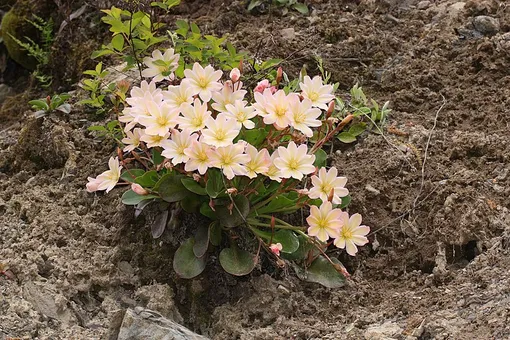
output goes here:
<path id="1" fill-rule="evenodd" d="M 368 243 L 366 235 L 370 232 L 370 228 L 361 224 L 361 215 L 354 214 L 349 218 L 346 212 L 341 214 L 342 228 L 339 235 L 336 236 L 335 246 L 347 250 L 347 254 L 355 256 L 358 247 Z"/>

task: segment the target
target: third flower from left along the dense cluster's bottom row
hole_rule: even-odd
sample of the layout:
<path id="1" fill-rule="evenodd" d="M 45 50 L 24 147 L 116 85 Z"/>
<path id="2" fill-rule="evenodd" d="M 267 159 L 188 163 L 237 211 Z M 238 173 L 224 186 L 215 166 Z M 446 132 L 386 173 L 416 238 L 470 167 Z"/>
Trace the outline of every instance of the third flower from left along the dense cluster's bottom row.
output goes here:
<path id="1" fill-rule="evenodd" d="M 236 143 L 217 148 L 209 152 L 211 166 L 219 168 L 228 179 L 236 175 L 246 175 L 244 164 L 250 160 L 250 156 L 244 153 L 244 144 Z"/>

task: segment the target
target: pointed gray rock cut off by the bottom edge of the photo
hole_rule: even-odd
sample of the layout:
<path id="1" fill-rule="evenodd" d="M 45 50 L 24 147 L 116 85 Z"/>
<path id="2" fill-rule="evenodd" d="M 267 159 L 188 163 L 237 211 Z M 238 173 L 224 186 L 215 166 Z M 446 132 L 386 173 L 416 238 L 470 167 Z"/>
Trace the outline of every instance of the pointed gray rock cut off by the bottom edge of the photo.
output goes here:
<path id="1" fill-rule="evenodd" d="M 117 339 L 207 340 L 161 314 L 142 307 L 126 311 Z"/>

